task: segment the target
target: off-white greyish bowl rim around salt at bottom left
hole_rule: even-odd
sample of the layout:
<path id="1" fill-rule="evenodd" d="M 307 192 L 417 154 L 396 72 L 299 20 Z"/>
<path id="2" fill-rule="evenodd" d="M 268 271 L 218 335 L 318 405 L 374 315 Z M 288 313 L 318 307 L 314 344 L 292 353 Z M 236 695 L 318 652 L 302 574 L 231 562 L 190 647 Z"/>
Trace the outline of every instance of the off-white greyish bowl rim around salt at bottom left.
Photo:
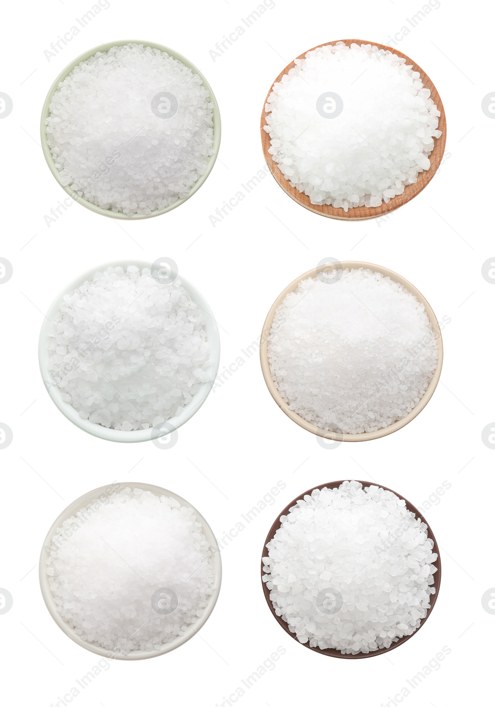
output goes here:
<path id="1" fill-rule="evenodd" d="M 79 498 L 76 498 L 76 501 L 73 501 L 69 506 L 67 506 L 67 508 L 60 513 L 58 518 L 56 518 L 56 520 L 52 524 L 52 527 L 47 533 L 47 537 L 45 537 L 44 539 L 44 543 L 40 552 L 40 562 L 38 565 L 40 589 L 44 604 L 46 605 L 49 614 L 52 619 L 54 619 L 56 625 L 59 626 L 59 629 L 64 631 L 66 636 L 71 638 L 72 641 L 74 641 L 78 645 L 82 646 L 82 648 L 90 650 L 91 653 L 97 653 L 97 655 L 101 655 L 103 658 L 112 658 L 115 660 L 144 660 L 145 658 L 156 658 L 157 655 L 164 655 L 165 653 L 169 653 L 171 650 L 179 648 L 179 645 L 183 645 L 184 643 L 186 643 L 186 641 L 189 641 L 189 639 L 195 636 L 196 633 L 198 633 L 198 631 L 202 628 L 202 626 L 204 626 L 206 621 L 208 621 L 211 613 L 213 612 L 213 609 L 215 608 L 215 604 L 217 603 L 218 595 L 220 594 L 220 585 L 222 584 L 222 559 L 220 557 L 220 549 L 218 547 L 215 534 L 213 533 L 213 530 L 211 530 L 210 525 L 208 525 L 208 522 L 206 522 L 205 518 L 203 518 L 203 515 L 201 515 L 201 513 L 199 513 L 199 511 L 191 503 L 189 503 L 189 501 L 186 501 L 185 498 L 182 498 L 177 493 L 174 493 L 174 491 L 163 489 L 161 486 L 155 486 L 154 484 L 141 484 L 135 481 L 123 481 L 122 484 L 119 484 L 120 489 L 118 490 L 112 489 L 112 486 L 115 485 L 116 484 L 107 484 L 106 486 L 100 486 L 98 489 L 93 489 L 93 491 L 83 493 L 83 496 L 79 496 Z M 132 650 L 131 653 L 123 655 L 122 653 L 116 653 L 114 650 L 107 650 L 106 648 L 102 648 L 100 645 L 94 645 L 93 643 L 88 643 L 88 641 L 83 641 L 83 639 L 80 638 L 77 633 L 75 633 L 74 629 L 71 629 L 68 623 L 61 618 L 59 612 L 56 611 L 54 595 L 52 594 L 52 590 L 49 586 L 48 575 L 46 573 L 46 562 L 44 562 L 44 560 L 46 560 L 48 554 L 47 549 L 52 544 L 52 538 L 56 534 L 57 528 L 61 527 L 61 524 L 62 522 L 64 522 L 64 520 L 71 518 L 72 515 L 75 515 L 79 510 L 82 510 L 83 508 L 88 506 L 88 503 L 91 503 L 91 501 L 95 501 L 97 498 L 102 496 L 102 494 L 112 496 L 113 493 L 117 493 L 122 489 L 126 489 L 126 487 L 128 486 L 131 489 L 143 489 L 143 491 L 151 491 L 152 493 L 155 493 L 155 496 L 171 496 L 172 498 L 175 498 L 176 501 L 179 501 L 181 506 L 192 508 L 193 512 L 196 514 L 198 522 L 201 522 L 201 525 L 203 526 L 203 535 L 210 543 L 210 548 L 214 549 L 212 553 L 212 562 L 215 585 L 213 594 L 208 600 L 208 605 L 205 608 L 203 616 L 201 617 L 201 619 L 196 621 L 196 624 L 191 624 L 191 626 L 188 627 L 188 629 L 184 633 L 184 636 L 179 636 L 179 638 L 177 638 L 177 640 L 173 641 L 172 643 L 165 643 L 165 645 L 163 645 L 160 650 Z M 109 489 L 112 489 L 112 493 L 108 493 Z"/>

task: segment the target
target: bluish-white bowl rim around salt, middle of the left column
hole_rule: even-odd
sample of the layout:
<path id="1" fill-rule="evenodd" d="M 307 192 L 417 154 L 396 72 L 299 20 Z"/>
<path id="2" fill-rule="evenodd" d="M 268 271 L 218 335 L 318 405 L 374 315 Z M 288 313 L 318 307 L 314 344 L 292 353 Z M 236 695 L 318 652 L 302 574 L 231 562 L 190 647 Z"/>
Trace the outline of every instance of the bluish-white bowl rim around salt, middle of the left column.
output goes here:
<path id="1" fill-rule="evenodd" d="M 109 267 L 121 267 L 126 270 L 129 265 L 136 265 L 140 271 L 144 267 L 150 268 L 152 263 L 138 260 L 136 258 L 127 258 L 122 260 L 116 260 L 112 262 L 107 262 L 105 264 L 93 267 L 86 271 L 84 274 L 80 275 L 76 280 L 72 281 L 71 284 L 66 286 L 53 300 L 52 304 L 49 306 L 47 314 L 44 315 L 44 320 L 40 330 L 40 339 L 38 341 L 38 362 L 40 364 L 40 372 L 42 375 L 42 380 L 44 382 L 44 387 L 46 387 L 49 396 L 52 401 L 61 411 L 61 413 L 66 416 L 73 424 L 75 424 L 81 430 L 88 432 L 90 435 L 98 437 L 100 439 L 109 440 L 111 442 L 146 442 L 160 436 L 158 432 L 153 433 L 153 428 L 148 428 L 148 430 L 131 430 L 125 432 L 123 430 L 113 430 L 111 428 L 104 427 L 96 422 L 90 422 L 79 416 L 78 411 L 72 407 L 71 403 L 66 402 L 61 399 L 61 393 L 59 388 L 52 380 L 52 375 L 49 373 L 48 366 L 48 339 L 49 339 L 49 329 L 52 326 L 54 315 L 59 311 L 61 300 L 64 295 L 73 293 L 78 289 L 85 281 L 93 279 L 93 276 L 97 272 L 105 272 Z M 205 332 L 206 340 L 211 346 L 211 355 L 213 358 L 213 363 L 211 363 L 208 368 L 208 375 L 210 375 L 210 380 L 205 383 L 201 383 L 200 389 L 193 395 L 193 399 L 189 402 L 184 410 L 179 416 L 175 415 L 169 418 L 166 423 L 172 426 L 172 432 L 181 427 L 185 422 L 187 422 L 191 417 L 196 414 L 198 409 L 203 405 L 206 398 L 208 397 L 210 391 L 215 383 L 215 378 L 217 377 L 218 367 L 220 366 L 220 334 L 218 332 L 217 322 L 213 316 L 213 312 L 210 306 L 206 302 L 205 298 L 201 293 L 189 283 L 184 277 L 181 276 L 180 272 L 177 276 L 181 281 L 181 286 L 189 293 L 191 298 L 196 302 L 196 304 L 203 310 L 205 314 Z"/>

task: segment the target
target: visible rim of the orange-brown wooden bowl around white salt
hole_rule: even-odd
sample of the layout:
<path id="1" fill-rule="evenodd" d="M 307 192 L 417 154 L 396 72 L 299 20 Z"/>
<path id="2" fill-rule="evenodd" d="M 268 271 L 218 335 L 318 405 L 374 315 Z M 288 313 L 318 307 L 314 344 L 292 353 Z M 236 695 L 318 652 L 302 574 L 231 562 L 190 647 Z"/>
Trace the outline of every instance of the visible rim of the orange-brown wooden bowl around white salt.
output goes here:
<path id="1" fill-rule="evenodd" d="M 318 45 L 318 47 L 313 47 L 313 49 L 318 49 L 319 47 L 328 47 L 328 45 L 335 45 L 337 44 L 337 42 L 344 42 L 347 47 L 350 47 L 350 45 L 352 44 L 365 44 L 373 45 L 374 47 L 378 47 L 378 49 L 388 49 L 389 52 L 397 54 L 398 57 L 402 57 L 403 59 L 405 59 L 408 65 L 412 64 L 413 71 L 419 71 L 419 74 L 421 74 L 421 80 L 423 82 L 424 88 L 429 88 L 431 92 L 430 98 L 431 100 L 433 100 L 437 109 L 441 113 L 439 117 L 438 129 L 441 130 L 442 134 L 438 139 L 434 139 L 434 148 L 431 155 L 429 156 L 429 160 L 431 163 L 431 167 L 429 168 L 429 170 L 423 170 L 422 172 L 420 172 L 419 175 L 417 175 L 417 182 L 415 184 L 407 185 L 404 189 L 403 194 L 400 194 L 397 197 L 393 197 L 393 199 L 390 199 L 388 204 L 385 204 L 383 202 L 381 206 L 355 206 L 354 209 L 349 209 L 349 211 L 347 212 L 344 211 L 344 209 L 342 208 L 335 209 L 334 206 L 327 206 L 326 204 L 323 204 L 322 206 L 318 206 L 317 204 L 311 204 L 311 201 L 309 200 L 309 197 L 306 197 L 306 194 L 302 194 L 298 192 L 295 187 L 290 186 L 290 182 L 285 179 L 284 175 L 278 168 L 277 163 L 273 162 L 272 156 L 268 152 L 268 148 L 270 147 L 270 135 L 265 130 L 263 130 L 263 126 L 266 125 L 266 116 L 268 115 L 265 110 L 265 106 L 268 103 L 268 96 L 273 90 L 273 85 L 281 81 L 282 76 L 284 74 L 288 74 L 290 69 L 294 68 L 295 59 L 294 62 L 290 62 L 290 64 L 287 64 L 285 69 L 277 76 L 277 78 L 275 78 L 275 81 L 272 83 L 272 86 L 268 91 L 265 103 L 263 103 L 260 127 L 261 144 L 263 146 L 263 155 L 265 156 L 268 168 L 270 168 L 270 172 L 275 177 L 275 180 L 278 182 L 278 185 L 280 185 L 284 192 L 286 194 L 289 194 L 289 196 L 292 197 L 294 201 L 297 201 L 298 204 L 304 206 L 305 209 L 309 209 L 309 211 L 314 211 L 315 214 L 320 214 L 320 216 L 327 216 L 328 218 L 340 218 L 341 221 L 366 221 L 366 219 L 368 218 L 376 218 L 377 216 L 383 216 L 383 214 L 388 214 L 390 211 L 398 209 L 399 206 L 402 206 L 402 204 L 407 204 L 407 201 L 410 201 L 417 194 L 419 194 L 419 192 L 422 192 L 428 182 L 433 179 L 436 170 L 440 166 L 443 157 L 443 151 L 445 150 L 445 144 L 447 139 L 447 124 L 445 119 L 445 112 L 443 110 L 443 104 L 441 102 L 439 92 L 434 86 L 434 83 L 431 81 L 431 78 L 429 78 L 426 72 L 423 71 L 421 66 L 415 64 L 415 62 L 413 62 L 410 57 L 407 57 L 406 54 L 402 54 L 402 52 L 398 52 L 397 49 L 393 49 L 392 47 L 387 47 L 386 45 L 378 44 L 378 42 L 368 42 L 367 40 L 335 40 L 333 42 L 325 42 L 325 44 Z M 306 54 L 308 52 L 312 52 L 313 49 L 308 49 L 303 54 L 299 54 L 299 57 L 296 58 L 304 59 L 304 57 L 306 57 Z"/>

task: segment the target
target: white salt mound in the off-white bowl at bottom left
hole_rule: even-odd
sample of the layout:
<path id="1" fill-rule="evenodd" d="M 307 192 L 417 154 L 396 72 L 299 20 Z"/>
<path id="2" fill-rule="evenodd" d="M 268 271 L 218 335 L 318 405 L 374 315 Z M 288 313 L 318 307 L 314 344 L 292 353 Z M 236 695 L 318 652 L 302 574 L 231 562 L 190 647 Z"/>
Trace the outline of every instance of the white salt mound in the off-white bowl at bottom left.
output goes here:
<path id="1" fill-rule="evenodd" d="M 46 550 L 61 618 L 83 641 L 123 655 L 184 636 L 213 594 L 201 522 L 150 491 L 128 487 L 89 503 L 64 520 Z"/>

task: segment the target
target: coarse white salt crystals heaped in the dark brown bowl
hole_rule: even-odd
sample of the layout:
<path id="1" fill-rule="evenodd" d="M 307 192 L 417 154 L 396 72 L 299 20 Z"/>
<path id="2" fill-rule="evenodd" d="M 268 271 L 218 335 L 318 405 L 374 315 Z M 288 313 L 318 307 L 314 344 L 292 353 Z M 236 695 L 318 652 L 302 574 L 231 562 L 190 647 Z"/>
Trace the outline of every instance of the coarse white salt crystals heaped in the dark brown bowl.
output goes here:
<path id="1" fill-rule="evenodd" d="M 395 493 L 344 481 L 299 499 L 280 522 L 263 582 L 301 643 L 357 655 L 419 628 L 438 556 L 427 525 Z"/>

